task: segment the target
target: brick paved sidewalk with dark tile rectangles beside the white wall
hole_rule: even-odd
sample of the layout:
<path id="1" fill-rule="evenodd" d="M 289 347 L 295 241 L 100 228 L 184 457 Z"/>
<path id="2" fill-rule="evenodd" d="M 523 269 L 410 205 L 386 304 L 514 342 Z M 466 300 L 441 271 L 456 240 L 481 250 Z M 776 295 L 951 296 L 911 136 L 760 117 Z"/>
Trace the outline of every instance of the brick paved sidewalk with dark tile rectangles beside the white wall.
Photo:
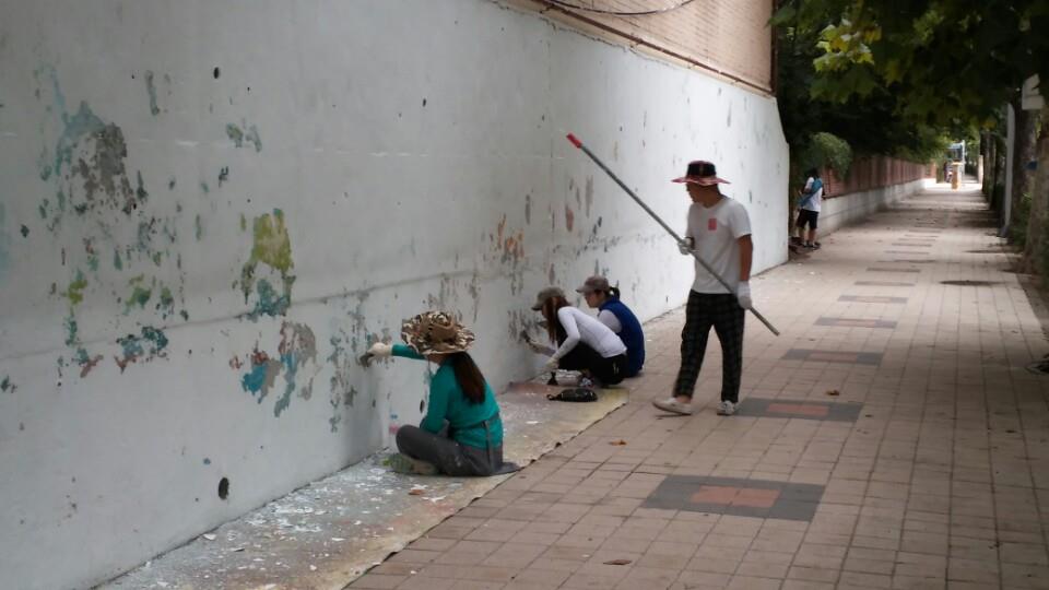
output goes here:
<path id="1" fill-rule="evenodd" d="M 747 320 L 736 416 L 714 338 L 704 410 L 651 406 L 683 315 L 650 322 L 628 405 L 351 587 L 1049 588 L 1045 314 L 991 225 L 930 189 L 755 279 L 783 335 Z"/>

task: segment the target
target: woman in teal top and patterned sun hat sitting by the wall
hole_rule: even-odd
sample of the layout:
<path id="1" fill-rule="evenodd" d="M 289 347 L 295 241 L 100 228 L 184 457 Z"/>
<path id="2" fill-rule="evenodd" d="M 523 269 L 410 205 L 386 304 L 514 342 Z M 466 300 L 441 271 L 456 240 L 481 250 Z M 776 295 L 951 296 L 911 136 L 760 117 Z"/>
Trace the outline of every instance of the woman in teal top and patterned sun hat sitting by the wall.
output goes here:
<path id="1" fill-rule="evenodd" d="M 390 467 L 401 473 L 493 475 L 518 468 L 503 462 L 503 421 L 481 369 L 467 353 L 473 332 L 450 314 L 427 311 L 404 320 L 405 344 L 376 342 L 372 357 L 403 356 L 438 365 L 429 382 L 429 406 L 422 424 L 397 430 L 400 455 Z"/>

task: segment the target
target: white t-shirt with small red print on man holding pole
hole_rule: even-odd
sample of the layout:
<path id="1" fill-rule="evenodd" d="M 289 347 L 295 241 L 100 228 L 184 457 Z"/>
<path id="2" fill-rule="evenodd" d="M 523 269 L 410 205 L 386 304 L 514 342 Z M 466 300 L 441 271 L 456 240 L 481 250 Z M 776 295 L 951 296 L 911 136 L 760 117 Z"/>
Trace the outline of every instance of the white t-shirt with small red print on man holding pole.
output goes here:
<path id="1" fill-rule="evenodd" d="M 688 208 L 688 232 L 695 251 L 710 268 L 732 286 L 727 291 L 717 279 L 696 261 L 696 293 L 735 293 L 740 284 L 740 247 L 738 240 L 751 234 L 751 219 L 742 203 L 722 197 L 718 204 L 707 209 L 702 203 Z"/>

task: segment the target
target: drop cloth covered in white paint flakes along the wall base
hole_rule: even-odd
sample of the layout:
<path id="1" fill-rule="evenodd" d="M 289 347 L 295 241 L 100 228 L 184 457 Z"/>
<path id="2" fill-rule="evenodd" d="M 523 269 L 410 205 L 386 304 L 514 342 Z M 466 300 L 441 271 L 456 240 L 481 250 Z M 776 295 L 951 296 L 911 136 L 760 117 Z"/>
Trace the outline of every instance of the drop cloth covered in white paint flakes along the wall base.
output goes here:
<path id="1" fill-rule="evenodd" d="M 499 396 L 507 460 L 538 459 L 627 398 L 616 389 L 602 391 L 594 403 L 551 403 L 545 394 L 552 390 L 519 384 Z M 170 588 L 343 588 L 506 479 L 398 475 L 380 467 L 384 457 L 314 482 L 99 588 L 158 581 Z"/>

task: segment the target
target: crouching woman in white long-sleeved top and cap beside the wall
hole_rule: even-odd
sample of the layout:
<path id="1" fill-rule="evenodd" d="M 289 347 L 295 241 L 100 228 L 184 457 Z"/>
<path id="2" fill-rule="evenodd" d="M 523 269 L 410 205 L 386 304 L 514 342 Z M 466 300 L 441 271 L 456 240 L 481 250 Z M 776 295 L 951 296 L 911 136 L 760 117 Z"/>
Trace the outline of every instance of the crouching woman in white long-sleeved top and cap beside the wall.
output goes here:
<path id="1" fill-rule="evenodd" d="M 559 345 L 546 362 L 546 370 L 578 370 L 582 374 L 579 387 L 584 388 L 593 387 L 594 379 L 615 385 L 626 376 L 623 341 L 593 316 L 568 305 L 561 288 L 540 291 L 532 309 L 543 314 L 551 343 Z"/>

